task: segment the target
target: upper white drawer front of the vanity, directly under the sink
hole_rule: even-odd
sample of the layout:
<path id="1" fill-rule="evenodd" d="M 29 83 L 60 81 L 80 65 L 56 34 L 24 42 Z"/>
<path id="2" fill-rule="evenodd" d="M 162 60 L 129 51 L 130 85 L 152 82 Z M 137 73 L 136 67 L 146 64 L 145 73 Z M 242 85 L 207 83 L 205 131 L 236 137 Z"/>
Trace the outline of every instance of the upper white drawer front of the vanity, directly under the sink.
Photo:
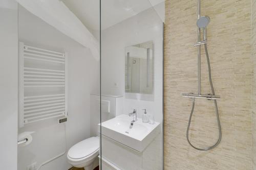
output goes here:
<path id="1" fill-rule="evenodd" d="M 142 169 L 141 152 L 104 135 L 101 135 L 101 155 L 102 159 L 105 158 L 122 170 Z"/>

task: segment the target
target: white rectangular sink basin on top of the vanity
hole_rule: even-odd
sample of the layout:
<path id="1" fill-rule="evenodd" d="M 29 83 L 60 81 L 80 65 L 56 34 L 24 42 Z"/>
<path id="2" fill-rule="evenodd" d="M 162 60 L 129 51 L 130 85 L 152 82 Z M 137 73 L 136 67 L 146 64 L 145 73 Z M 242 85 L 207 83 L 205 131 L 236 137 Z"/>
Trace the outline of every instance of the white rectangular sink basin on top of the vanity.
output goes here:
<path id="1" fill-rule="evenodd" d="M 160 124 L 158 122 L 153 125 L 143 123 L 142 119 L 138 118 L 130 129 L 132 120 L 133 116 L 122 114 L 102 122 L 101 134 L 142 152 L 160 132 Z M 98 124 L 98 132 L 100 133 L 100 124 Z"/>

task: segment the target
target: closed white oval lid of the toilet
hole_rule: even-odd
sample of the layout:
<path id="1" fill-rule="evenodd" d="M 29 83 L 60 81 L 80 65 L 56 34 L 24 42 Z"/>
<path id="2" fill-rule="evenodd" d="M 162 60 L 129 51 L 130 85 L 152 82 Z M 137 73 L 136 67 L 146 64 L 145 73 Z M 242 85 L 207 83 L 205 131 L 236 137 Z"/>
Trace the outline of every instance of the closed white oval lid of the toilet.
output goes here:
<path id="1" fill-rule="evenodd" d="M 90 137 L 82 140 L 70 148 L 68 156 L 72 159 L 81 159 L 91 155 L 99 149 L 99 138 Z"/>

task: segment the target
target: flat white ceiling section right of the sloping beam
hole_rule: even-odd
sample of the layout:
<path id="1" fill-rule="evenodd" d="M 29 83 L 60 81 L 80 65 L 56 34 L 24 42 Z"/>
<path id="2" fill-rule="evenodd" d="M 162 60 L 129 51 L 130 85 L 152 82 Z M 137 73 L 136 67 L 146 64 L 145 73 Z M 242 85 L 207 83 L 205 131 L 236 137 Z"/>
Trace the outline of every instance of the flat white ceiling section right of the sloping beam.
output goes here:
<path id="1" fill-rule="evenodd" d="M 99 30 L 99 0 L 61 0 L 91 30 Z M 165 0 L 103 0 L 101 1 L 101 29 L 109 28 L 155 6 L 164 19 Z M 162 3 L 161 6 L 159 4 Z"/>

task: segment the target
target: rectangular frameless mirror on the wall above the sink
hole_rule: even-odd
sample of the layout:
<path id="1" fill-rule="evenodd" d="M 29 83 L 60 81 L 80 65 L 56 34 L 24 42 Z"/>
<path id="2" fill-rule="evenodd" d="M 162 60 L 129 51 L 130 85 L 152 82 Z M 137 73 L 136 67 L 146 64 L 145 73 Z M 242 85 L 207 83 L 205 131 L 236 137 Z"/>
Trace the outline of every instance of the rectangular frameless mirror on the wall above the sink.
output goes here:
<path id="1" fill-rule="evenodd" d="M 152 94 L 154 44 L 147 41 L 125 48 L 125 92 Z"/>

